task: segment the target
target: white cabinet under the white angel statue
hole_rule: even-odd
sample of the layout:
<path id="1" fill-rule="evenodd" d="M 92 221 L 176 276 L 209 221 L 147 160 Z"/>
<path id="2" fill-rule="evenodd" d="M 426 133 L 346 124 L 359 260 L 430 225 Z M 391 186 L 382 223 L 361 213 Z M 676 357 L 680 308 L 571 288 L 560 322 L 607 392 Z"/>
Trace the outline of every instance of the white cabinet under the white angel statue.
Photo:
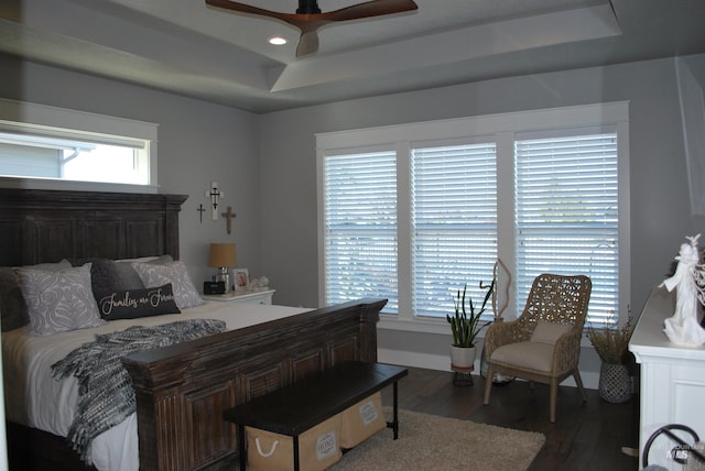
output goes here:
<path id="1" fill-rule="evenodd" d="M 663 321 L 674 309 L 675 292 L 654 287 L 629 342 L 629 350 L 641 364 L 640 460 L 649 437 L 664 425 L 685 425 L 705 441 L 705 347 L 682 347 L 669 341 L 663 333 Z M 687 443 L 693 442 L 690 434 L 681 431 L 677 435 Z M 662 434 L 651 445 L 649 464 L 683 469 L 666 458 L 676 445 Z M 642 467 L 643 460 L 640 461 Z"/>

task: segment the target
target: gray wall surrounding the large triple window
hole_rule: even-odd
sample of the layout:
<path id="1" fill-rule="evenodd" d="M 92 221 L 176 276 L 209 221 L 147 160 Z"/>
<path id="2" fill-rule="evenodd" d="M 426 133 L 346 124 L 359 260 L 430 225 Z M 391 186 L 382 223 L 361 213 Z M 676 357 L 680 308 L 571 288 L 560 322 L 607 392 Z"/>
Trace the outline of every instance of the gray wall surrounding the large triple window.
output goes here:
<path id="1" fill-rule="evenodd" d="M 687 58 L 702 70 L 705 55 Z M 697 74 L 696 74 L 697 75 Z M 705 86 L 702 74 L 701 87 Z M 278 302 L 317 302 L 314 133 L 606 101 L 630 102 L 631 297 L 638 316 L 671 269 L 692 217 L 673 59 L 556 72 L 272 112 L 259 117 L 263 185 L 262 266 Z M 701 156 L 705 158 L 705 156 Z M 381 348 L 446 354 L 447 338 L 381 330 Z M 598 370 L 584 349 L 582 370 Z"/>

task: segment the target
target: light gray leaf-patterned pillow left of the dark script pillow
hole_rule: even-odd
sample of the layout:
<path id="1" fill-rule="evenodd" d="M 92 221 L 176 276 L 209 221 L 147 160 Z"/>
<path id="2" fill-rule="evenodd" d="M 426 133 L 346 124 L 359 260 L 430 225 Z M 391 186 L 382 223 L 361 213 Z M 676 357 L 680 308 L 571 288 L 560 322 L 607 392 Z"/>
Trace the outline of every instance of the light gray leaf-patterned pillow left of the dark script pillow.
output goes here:
<path id="1" fill-rule="evenodd" d="M 105 324 L 90 289 L 90 263 L 61 272 L 15 269 L 30 317 L 39 336 Z"/>

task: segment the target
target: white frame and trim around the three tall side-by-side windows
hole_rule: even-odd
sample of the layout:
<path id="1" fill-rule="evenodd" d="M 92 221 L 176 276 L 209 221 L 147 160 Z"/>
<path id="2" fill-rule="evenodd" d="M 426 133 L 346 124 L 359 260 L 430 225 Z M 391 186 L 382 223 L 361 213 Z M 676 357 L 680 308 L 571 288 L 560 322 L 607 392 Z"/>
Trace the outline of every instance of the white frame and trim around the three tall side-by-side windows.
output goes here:
<path id="1" fill-rule="evenodd" d="M 630 315 L 630 217 L 629 217 L 629 102 L 606 102 L 585 106 L 518 111 L 470 118 L 427 121 L 379 128 L 317 133 L 318 191 L 318 299 L 325 305 L 325 232 L 323 198 L 323 162 L 330 152 L 357 152 L 386 146 L 398 153 L 398 216 L 399 223 L 399 314 L 382 315 L 381 328 L 420 332 L 447 333 L 445 319 L 416 318 L 411 306 L 411 201 L 410 155 L 413 144 L 421 141 L 482 139 L 494 136 L 497 145 L 497 232 L 498 254 L 502 263 L 513 270 L 514 195 L 513 143 L 517 135 L 530 132 L 551 132 L 566 128 L 600 128 L 614 125 L 618 136 L 619 191 L 619 321 Z M 404 157 L 408 156 L 408 157 Z M 508 291 L 500 278 L 497 288 L 498 306 L 507 305 L 505 317 L 518 311 L 513 286 Z M 509 293 L 509 299 L 507 299 Z M 523 307 L 523 305 L 521 306 Z M 520 307 L 519 307 L 520 308 Z"/>

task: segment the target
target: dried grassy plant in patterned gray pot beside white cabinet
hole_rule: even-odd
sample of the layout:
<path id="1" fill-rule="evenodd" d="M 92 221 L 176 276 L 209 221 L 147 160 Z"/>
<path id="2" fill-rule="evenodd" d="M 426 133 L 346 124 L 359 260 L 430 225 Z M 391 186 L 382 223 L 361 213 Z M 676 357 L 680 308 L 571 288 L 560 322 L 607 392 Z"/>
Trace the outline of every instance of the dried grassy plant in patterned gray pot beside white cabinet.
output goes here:
<path id="1" fill-rule="evenodd" d="M 629 339 L 633 332 L 631 317 L 618 328 L 587 326 L 587 338 L 603 361 L 599 369 L 599 396 L 610 403 L 623 403 L 631 396 L 629 380 Z"/>

